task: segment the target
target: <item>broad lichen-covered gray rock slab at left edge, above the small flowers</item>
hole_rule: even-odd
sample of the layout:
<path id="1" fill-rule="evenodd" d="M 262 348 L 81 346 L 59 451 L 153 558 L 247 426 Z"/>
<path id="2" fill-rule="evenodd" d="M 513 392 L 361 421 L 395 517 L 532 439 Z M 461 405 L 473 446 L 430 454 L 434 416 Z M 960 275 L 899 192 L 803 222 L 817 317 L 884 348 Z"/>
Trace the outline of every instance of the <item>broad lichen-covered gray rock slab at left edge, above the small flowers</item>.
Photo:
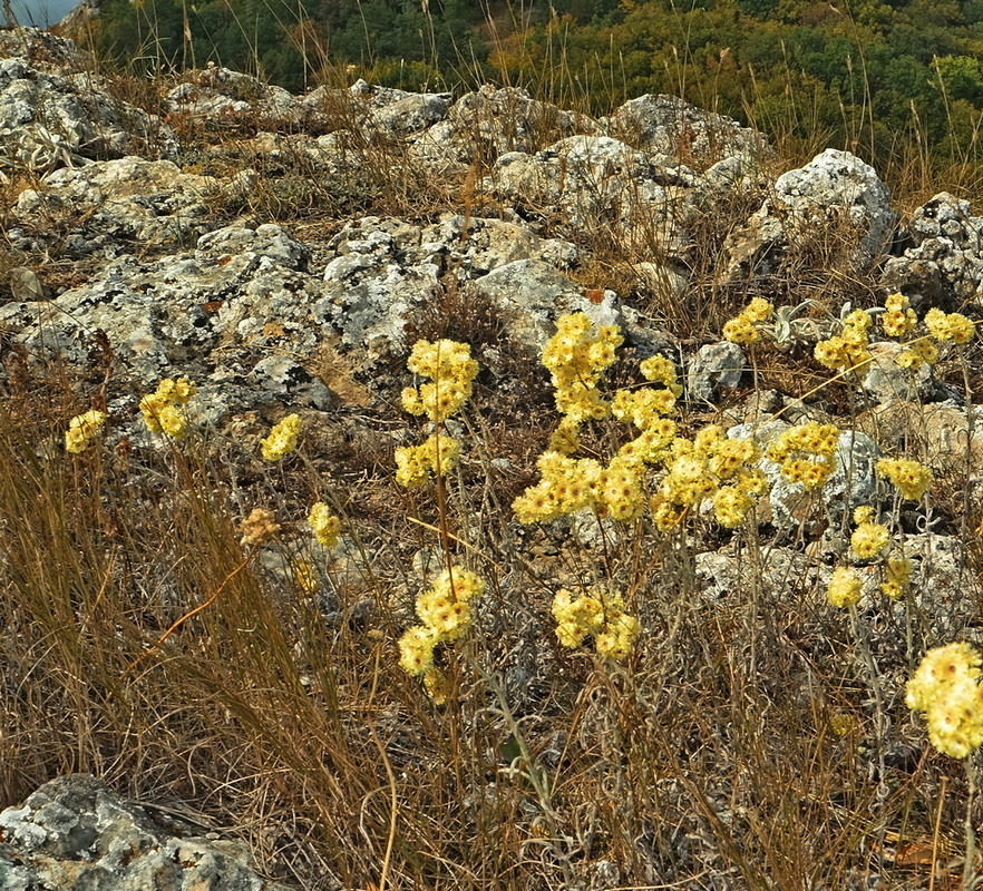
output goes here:
<path id="1" fill-rule="evenodd" d="M 52 301 L 8 303 L 0 323 L 32 355 L 57 352 L 78 364 L 103 331 L 117 361 L 143 385 L 174 376 L 175 369 L 199 385 L 214 375 L 228 408 L 262 404 L 295 388 L 312 404 L 324 404 L 318 388 L 308 392 L 299 379 L 288 386 L 265 366 L 247 381 L 256 359 L 237 365 L 240 353 L 255 351 L 303 361 L 330 333 L 313 320 L 322 285 L 306 274 L 308 261 L 306 249 L 280 226 L 231 226 L 203 236 L 191 253 L 147 262 L 119 257 L 89 284 Z M 259 380 L 271 389 L 257 389 Z"/>

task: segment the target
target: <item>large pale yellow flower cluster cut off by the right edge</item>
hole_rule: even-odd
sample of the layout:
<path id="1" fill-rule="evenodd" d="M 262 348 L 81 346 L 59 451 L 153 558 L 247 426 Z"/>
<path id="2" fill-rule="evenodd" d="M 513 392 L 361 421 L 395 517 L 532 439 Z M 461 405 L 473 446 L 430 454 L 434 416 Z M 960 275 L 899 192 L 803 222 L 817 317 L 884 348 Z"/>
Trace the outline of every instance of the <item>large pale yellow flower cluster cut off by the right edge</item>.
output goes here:
<path id="1" fill-rule="evenodd" d="M 966 643 L 930 649 L 908 681 L 905 703 L 924 712 L 928 740 L 954 758 L 983 743 L 983 687 L 980 654 Z"/>

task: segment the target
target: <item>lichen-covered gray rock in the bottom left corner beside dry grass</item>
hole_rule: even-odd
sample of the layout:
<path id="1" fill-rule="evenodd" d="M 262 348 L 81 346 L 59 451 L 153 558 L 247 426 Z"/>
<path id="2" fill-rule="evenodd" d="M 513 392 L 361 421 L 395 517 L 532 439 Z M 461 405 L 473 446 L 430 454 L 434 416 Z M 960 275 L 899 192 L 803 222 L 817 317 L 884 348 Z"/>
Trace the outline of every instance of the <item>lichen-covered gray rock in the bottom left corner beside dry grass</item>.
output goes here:
<path id="1" fill-rule="evenodd" d="M 285 891 L 245 845 L 175 832 L 87 774 L 46 783 L 0 813 L 2 891 Z M 212 834 L 212 833 L 210 833 Z"/>

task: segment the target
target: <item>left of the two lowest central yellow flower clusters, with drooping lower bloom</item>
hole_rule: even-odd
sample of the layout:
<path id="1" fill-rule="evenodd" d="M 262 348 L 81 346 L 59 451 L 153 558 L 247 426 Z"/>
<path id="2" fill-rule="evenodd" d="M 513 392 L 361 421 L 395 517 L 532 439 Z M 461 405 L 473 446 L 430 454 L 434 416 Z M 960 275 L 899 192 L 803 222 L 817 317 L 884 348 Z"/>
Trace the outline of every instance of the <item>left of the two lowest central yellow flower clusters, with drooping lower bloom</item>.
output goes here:
<path id="1" fill-rule="evenodd" d="M 459 640 L 471 624 L 471 603 L 485 590 L 485 582 L 468 569 L 451 567 L 440 572 L 417 598 L 413 625 L 399 639 L 399 664 L 413 677 L 422 675 L 424 685 L 437 705 L 447 702 L 449 684 L 434 664 L 434 650 L 446 640 Z"/>

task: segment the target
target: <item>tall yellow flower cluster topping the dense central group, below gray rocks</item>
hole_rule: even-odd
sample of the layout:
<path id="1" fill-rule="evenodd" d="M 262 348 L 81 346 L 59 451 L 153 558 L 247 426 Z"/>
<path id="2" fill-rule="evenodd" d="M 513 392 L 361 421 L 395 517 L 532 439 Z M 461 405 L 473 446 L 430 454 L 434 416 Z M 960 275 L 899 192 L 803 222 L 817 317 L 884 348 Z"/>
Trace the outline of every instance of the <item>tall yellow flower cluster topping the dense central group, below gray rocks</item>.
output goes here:
<path id="1" fill-rule="evenodd" d="M 615 360 L 622 336 L 616 325 L 594 323 L 585 313 L 562 315 L 556 333 L 543 347 L 543 364 L 549 370 L 556 408 L 574 423 L 607 417 L 597 382 Z"/>

